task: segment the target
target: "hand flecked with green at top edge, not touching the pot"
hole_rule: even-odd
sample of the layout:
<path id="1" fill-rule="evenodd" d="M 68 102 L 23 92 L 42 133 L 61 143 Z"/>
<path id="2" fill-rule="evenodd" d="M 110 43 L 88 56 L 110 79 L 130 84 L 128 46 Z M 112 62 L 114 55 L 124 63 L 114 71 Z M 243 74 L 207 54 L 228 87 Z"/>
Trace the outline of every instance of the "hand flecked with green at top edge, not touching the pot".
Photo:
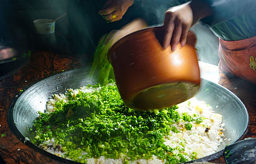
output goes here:
<path id="1" fill-rule="evenodd" d="M 119 21 L 132 6 L 134 0 L 107 0 L 103 8 L 98 12 L 109 22 Z"/>

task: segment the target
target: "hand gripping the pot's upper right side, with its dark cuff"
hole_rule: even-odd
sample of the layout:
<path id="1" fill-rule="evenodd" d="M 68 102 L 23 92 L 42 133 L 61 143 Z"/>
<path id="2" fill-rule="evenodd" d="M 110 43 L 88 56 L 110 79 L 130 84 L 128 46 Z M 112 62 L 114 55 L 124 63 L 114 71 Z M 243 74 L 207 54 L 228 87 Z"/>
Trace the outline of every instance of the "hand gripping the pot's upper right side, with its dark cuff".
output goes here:
<path id="1" fill-rule="evenodd" d="M 171 45 L 174 51 L 179 43 L 183 47 L 190 27 L 212 14 L 211 7 L 204 0 L 192 0 L 190 3 L 169 8 L 166 11 L 164 25 L 160 28 L 163 31 L 160 40 L 163 48 Z"/>

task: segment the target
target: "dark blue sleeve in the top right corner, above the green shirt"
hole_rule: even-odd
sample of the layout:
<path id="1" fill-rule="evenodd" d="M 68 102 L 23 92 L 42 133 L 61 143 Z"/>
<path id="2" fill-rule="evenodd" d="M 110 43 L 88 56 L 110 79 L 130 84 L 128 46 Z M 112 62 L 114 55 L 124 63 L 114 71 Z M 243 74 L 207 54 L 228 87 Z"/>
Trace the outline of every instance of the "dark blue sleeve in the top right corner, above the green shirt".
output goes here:
<path id="1" fill-rule="evenodd" d="M 256 12 L 256 0 L 203 0 L 213 10 L 213 15 L 202 21 L 210 26 L 233 19 L 246 12 Z M 255 20 L 252 20 L 255 21 Z"/>

